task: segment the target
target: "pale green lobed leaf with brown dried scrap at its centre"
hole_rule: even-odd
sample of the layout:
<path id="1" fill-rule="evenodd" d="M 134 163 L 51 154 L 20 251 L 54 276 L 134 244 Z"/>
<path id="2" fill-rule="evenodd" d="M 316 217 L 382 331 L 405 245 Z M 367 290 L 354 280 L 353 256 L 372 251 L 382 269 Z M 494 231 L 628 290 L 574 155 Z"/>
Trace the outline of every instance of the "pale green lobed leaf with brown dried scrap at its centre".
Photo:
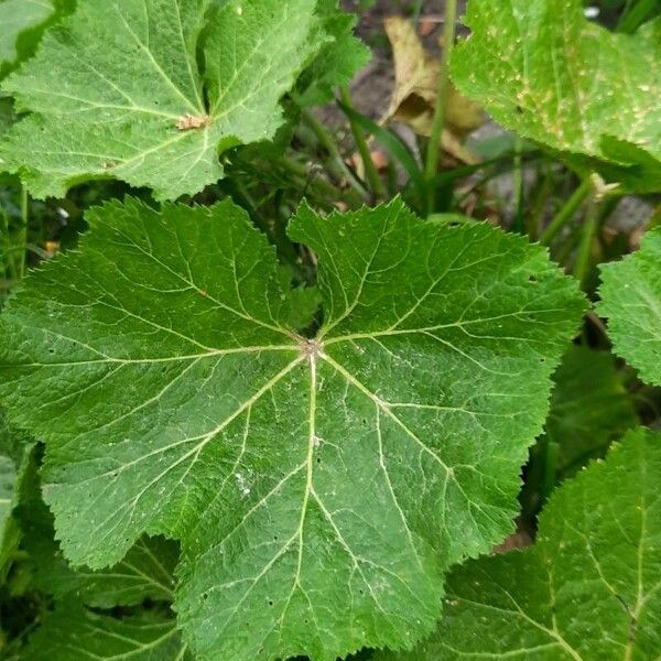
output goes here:
<path id="1" fill-rule="evenodd" d="M 232 0 L 207 22 L 212 3 L 79 2 L 4 84 L 32 115 L 0 164 L 39 198 L 116 177 L 172 199 L 223 177 L 218 154 L 273 137 L 280 98 L 327 37 L 311 0 Z"/>

